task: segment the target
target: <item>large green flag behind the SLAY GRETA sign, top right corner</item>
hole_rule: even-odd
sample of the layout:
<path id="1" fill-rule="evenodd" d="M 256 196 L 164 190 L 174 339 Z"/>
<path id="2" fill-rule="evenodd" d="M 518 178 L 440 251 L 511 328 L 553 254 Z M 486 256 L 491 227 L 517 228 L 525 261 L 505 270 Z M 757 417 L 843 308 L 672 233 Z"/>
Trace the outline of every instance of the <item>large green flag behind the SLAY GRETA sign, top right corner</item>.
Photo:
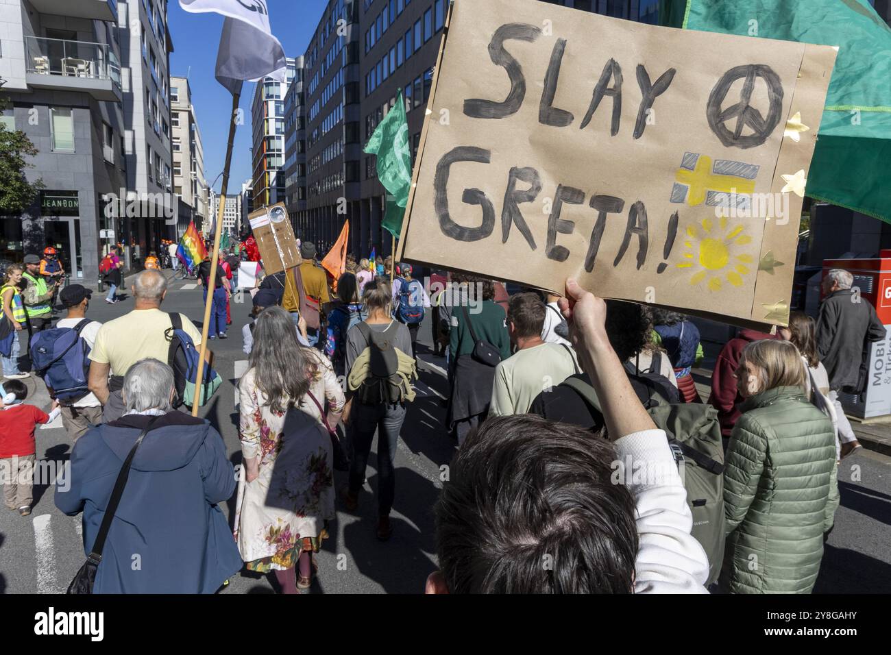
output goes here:
<path id="1" fill-rule="evenodd" d="M 838 45 L 805 193 L 891 223 L 884 173 L 891 161 L 891 28 L 867 0 L 661 0 L 659 9 L 671 27 Z"/>

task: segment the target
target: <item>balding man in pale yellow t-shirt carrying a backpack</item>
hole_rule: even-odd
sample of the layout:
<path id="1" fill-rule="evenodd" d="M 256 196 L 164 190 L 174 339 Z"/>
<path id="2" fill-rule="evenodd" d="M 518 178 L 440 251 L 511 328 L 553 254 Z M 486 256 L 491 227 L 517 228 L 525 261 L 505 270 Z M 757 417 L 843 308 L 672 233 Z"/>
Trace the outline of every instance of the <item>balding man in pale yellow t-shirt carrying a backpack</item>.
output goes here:
<path id="1" fill-rule="evenodd" d="M 168 361 L 170 342 L 165 332 L 173 323 L 170 315 L 160 310 L 167 295 L 167 278 L 160 271 L 143 271 L 136 275 L 132 291 L 133 311 L 103 324 L 90 352 L 88 385 L 104 405 L 105 422 L 115 421 L 125 412 L 120 390 L 130 366 L 147 357 Z M 198 328 L 184 315 L 180 315 L 180 320 L 184 332 L 192 337 L 195 346 L 200 346 Z"/>

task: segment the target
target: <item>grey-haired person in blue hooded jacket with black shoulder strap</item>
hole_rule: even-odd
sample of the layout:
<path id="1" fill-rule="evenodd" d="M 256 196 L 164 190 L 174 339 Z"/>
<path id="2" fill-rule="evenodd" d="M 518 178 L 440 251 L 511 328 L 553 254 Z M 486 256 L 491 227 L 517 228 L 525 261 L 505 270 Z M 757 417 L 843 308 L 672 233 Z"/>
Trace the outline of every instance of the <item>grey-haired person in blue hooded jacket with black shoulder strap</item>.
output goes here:
<path id="1" fill-rule="evenodd" d="M 173 393 L 167 364 L 133 364 L 124 380 L 127 413 L 79 438 L 69 475 L 56 483 L 56 507 L 71 516 L 84 512 L 88 554 L 121 465 L 158 417 L 136 450 L 94 594 L 212 594 L 241 570 L 241 555 L 217 506 L 236 487 L 223 438 L 208 421 L 174 410 Z"/>

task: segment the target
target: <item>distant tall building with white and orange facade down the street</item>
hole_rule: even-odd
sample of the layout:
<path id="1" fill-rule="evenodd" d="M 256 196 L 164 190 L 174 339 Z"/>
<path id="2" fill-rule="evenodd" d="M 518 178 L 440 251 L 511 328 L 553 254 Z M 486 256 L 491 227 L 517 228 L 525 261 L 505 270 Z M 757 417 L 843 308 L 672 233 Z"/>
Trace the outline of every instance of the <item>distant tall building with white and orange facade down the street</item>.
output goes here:
<path id="1" fill-rule="evenodd" d="M 285 199 L 284 98 L 297 75 L 297 61 L 288 58 L 285 81 L 264 78 L 254 86 L 250 112 L 255 207 L 274 205 Z"/>

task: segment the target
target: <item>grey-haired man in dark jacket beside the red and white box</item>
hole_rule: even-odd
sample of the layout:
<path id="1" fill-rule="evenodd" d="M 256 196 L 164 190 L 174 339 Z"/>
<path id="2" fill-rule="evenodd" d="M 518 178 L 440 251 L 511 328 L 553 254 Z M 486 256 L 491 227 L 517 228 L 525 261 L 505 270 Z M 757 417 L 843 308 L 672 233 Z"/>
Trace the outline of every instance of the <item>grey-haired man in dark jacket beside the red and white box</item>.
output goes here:
<path id="1" fill-rule="evenodd" d="M 869 302 L 851 290 L 854 275 L 833 268 L 823 278 L 825 298 L 817 319 L 817 353 L 830 377 L 830 401 L 838 399 L 838 390 L 862 391 L 861 369 L 872 341 L 885 339 L 885 326 Z M 844 413 L 838 415 L 838 439 L 841 456 L 861 447 Z"/>

